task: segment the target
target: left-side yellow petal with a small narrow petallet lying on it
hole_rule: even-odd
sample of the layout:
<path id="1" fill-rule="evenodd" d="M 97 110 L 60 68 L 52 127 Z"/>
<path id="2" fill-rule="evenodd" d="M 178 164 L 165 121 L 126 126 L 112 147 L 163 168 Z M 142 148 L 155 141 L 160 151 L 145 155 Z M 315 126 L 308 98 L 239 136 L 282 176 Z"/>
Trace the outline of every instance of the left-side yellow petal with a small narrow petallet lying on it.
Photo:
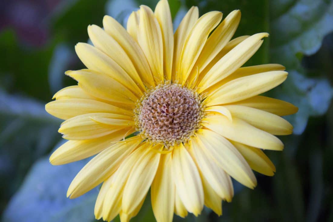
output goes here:
<path id="1" fill-rule="evenodd" d="M 94 117 L 109 117 L 113 119 L 122 118 L 125 123 L 107 125 L 94 121 Z M 134 126 L 134 122 L 127 116 L 110 113 L 88 113 L 70 118 L 63 122 L 58 130 L 63 134 L 63 138 L 68 140 L 89 140 L 111 134 L 117 130 Z"/>

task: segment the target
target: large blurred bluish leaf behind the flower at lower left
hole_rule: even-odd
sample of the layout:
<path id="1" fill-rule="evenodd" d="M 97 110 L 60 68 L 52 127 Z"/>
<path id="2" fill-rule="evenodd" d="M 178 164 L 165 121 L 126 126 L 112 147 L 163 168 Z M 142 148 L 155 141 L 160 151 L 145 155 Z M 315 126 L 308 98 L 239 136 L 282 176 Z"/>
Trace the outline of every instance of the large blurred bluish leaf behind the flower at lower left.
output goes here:
<path id="1" fill-rule="evenodd" d="M 87 162 L 53 166 L 47 157 L 37 161 L 4 211 L 3 221 L 95 221 L 96 188 L 77 199 L 66 198 L 71 180 Z"/>

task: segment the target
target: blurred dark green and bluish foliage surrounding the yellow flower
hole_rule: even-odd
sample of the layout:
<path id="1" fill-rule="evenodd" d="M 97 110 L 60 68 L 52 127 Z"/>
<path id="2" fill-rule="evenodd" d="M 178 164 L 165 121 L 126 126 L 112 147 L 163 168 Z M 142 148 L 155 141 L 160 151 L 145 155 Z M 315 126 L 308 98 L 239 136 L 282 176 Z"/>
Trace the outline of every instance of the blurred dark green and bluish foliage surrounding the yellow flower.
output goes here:
<path id="1" fill-rule="evenodd" d="M 11 0 L 0 2 L 0 220 L 96 222 L 98 189 L 70 200 L 66 191 L 88 160 L 52 166 L 48 158 L 64 141 L 59 119 L 44 105 L 59 89 L 76 84 L 68 69 L 84 68 L 77 42 L 89 42 L 87 26 L 105 14 L 126 24 L 140 4 L 157 0 Z M 204 209 L 174 221 L 333 221 L 333 1 L 169 0 L 174 27 L 196 5 L 200 15 L 240 9 L 234 37 L 269 32 L 245 65 L 280 63 L 289 77 L 268 96 L 299 107 L 287 117 L 294 134 L 280 137 L 283 152 L 267 151 L 274 177 L 256 174 L 254 190 L 234 182 L 235 197 L 223 215 Z M 131 221 L 155 221 L 150 197 Z M 115 221 L 119 221 L 116 218 Z"/>

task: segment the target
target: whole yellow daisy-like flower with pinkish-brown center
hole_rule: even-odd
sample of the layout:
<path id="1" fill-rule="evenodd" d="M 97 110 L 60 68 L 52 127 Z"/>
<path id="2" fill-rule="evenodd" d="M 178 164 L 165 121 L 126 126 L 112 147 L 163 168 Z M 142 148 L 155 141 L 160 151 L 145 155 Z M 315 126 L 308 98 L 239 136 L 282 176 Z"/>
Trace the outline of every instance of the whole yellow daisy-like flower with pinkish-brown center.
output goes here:
<path id="1" fill-rule="evenodd" d="M 297 107 L 259 94 L 287 72 L 278 64 L 241 67 L 268 34 L 230 41 L 240 11 L 221 19 L 218 11 L 199 18 L 192 7 L 173 33 L 168 2 L 161 0 L 155 12 L 144 5 L 133 12 L 127 30 L 105 16 L 104 30 L 88 27 L 94 46 L 76 45 L 87 69 L 67 71 L 78 86 L 46 105 L 66 120 L 59 132 L 69 140 L 50 162 L 97 154 L 67 193 L 76 198 L 103 183 L 97 219 L 120 214 L 129 221 L 150 188 L 159 222 L 172 221 L 173 213 L 197 216 L 203 205 L 221 215 L 221 201 L 233 197 L 231 177 L 253 189 L 251 169 L 274 174 L 262 150 L 283 149 L 274 135 L 291 134 L 292 126 L 280 116 Z"/>

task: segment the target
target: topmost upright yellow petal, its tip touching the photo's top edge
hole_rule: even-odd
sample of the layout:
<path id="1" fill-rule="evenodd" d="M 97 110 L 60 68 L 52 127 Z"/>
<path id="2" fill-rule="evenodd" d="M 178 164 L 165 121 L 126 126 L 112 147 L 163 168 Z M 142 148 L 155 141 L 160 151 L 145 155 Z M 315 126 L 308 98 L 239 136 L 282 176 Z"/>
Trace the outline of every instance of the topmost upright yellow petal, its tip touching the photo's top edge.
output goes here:
<path id="1" fill-rule="evenodd" d="M 170 7 L 167 0 L 161 0 L 155 8 L 155 17 L 160 24 L 163 37 L 163 62 L 167 80 L 171 80 L 173 57 L 173 27 Z"/>

